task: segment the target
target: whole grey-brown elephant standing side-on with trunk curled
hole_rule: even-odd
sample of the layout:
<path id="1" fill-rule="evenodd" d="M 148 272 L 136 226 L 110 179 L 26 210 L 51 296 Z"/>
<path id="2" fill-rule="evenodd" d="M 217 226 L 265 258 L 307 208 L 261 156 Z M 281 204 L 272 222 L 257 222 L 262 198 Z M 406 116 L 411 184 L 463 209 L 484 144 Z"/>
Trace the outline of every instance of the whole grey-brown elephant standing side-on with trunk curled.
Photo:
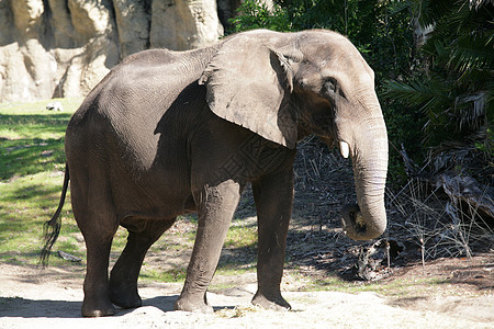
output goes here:
<path id="1" fill-rule="evenodd" d="M 257 212 L 252 304 L 290 309 L 282 297 L 294 197 L 296 143 L 314 135 L 351 157 L 357 204 L 346 235 L 368 240 L 386 228 L 388 134 L 374 73 L 345 36 L 327 30 L 255 30 L 192 50 L 148 49 L 122 60 L 70 118 L 59 206 L 45 224 L 43 257 L 56 241 L 70 181 L 87 247 L 82 316 L 142 305 L 137 279 L 148 248 L 177 216 L 198 229 L 177 310 L 210 313 L 206 290 L 240 194 Z M 119 226 L 127 242 L 109 274 Z"/>

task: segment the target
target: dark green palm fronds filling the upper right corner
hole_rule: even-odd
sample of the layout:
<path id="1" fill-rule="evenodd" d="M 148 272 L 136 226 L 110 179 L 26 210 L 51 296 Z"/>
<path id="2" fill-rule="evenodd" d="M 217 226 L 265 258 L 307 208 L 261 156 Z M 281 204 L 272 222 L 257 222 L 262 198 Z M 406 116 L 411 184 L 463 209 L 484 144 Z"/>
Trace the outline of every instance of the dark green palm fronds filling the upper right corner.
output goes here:
<path id="1" fill-rule="evenodd" d="M 406 5 L 423 27 L 434 29 L 420 48 L 418 69 L 401 81 L 389 81 L 388 97 L 422 113 L 427 146 L 484 145 L 493 123 L 492 4 L 403 1 L 402 7 Z"/>

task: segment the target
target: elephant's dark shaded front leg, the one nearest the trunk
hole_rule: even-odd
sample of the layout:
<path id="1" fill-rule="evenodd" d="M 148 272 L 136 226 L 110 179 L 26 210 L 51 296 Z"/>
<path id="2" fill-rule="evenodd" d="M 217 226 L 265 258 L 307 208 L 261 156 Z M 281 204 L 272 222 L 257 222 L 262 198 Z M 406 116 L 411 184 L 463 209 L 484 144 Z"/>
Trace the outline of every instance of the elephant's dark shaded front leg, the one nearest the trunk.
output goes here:
<path id="1" fill-rule="evenodd" d="M 258 290 L 254 305 L 287 310 L 281 296 L 287 234 L 293 204 L 293 170 L 263 177 L 252 184 L 258 217 Z"/>

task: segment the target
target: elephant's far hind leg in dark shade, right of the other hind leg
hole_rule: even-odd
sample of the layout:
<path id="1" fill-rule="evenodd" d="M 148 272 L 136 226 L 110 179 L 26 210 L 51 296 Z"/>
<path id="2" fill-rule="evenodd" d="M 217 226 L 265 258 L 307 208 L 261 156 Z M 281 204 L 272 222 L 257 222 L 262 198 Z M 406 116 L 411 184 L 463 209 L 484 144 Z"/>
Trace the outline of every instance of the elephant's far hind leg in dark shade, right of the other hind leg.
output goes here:
<path id="1" fill-rule="evenodd" d="M 131 219 L 123 226 L 128 230 L 125 249 L 110 274 L 110 300 L 123 308 L 139 307 L 137 279 L 149 247 L 170 228 L 176 218 Z"/>

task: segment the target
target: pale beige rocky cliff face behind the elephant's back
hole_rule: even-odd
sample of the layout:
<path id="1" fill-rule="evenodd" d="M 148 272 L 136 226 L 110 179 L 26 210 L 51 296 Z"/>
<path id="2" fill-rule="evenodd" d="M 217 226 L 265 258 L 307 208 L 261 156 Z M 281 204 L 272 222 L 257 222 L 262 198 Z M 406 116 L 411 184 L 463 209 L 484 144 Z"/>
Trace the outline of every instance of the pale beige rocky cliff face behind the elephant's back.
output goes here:
<path id="1" fill-rule="evenodd" d="M 0 102 L 86 95 L 130 54 L 211 44 L 238 2 L 0 0 Z"/>

